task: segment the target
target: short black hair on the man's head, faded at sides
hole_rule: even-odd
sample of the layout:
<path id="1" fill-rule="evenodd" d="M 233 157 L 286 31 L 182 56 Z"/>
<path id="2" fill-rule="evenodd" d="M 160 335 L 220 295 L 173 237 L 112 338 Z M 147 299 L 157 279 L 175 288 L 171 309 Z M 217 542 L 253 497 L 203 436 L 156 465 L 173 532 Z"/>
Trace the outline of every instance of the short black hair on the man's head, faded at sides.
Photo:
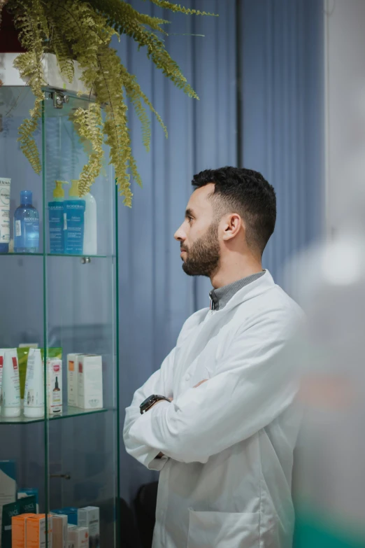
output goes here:
<path id="1" fill-rule="evenodd" d="M 201 188 L 214 183 L 219 213 L 238 213 L 246 228 L 248 246 L 264 252 L 275 229 L 276 195 L 259 171 L 243 167 L 206 169 L 194 175 L 192 185 Z"/>

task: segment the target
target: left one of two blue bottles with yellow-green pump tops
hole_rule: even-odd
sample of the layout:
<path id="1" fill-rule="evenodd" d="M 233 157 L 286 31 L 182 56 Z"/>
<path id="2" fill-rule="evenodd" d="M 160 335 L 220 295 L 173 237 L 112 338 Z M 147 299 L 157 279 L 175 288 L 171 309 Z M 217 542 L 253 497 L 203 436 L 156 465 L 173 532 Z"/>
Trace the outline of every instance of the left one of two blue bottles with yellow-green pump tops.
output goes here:
<path id="1" fill-rule="evenodd" d="M 50 253 L 64 253 L 64 189 L 62 185 L 69 184 L 67 181 L 55 181 L 56 188 L 53 190 L 53 201 L 48 202 L 48 226 L 50 230 Z"/>

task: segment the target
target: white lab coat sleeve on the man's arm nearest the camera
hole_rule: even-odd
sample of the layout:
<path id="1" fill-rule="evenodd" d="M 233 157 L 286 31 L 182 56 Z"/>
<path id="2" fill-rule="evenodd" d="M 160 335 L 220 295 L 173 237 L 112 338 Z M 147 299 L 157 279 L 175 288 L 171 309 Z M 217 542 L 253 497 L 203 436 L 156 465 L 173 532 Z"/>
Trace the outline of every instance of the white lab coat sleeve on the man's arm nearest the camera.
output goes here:
<path id="1" fill-rule="evenodd" d="M 139 417 L 131 440 L 176 461 L 206 463 L 269 425 L 296 394 L 293 364 L 284 357 L 290 323 L 273 314 L 238 330 L 215 376 Z"/>

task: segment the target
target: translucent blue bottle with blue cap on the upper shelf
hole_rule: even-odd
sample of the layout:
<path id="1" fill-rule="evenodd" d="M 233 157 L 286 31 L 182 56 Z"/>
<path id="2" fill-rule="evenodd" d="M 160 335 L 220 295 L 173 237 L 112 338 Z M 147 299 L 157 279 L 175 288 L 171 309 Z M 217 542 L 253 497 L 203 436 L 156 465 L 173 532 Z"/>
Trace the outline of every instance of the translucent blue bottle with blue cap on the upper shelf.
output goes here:
<path id="1" fill-rule="evenodd" d="M 14 213 L 14 252 L 37 253 L 39 247 L 39 214 L 32 205 L 30 190 L 20 192 L 20 206 Z"/>

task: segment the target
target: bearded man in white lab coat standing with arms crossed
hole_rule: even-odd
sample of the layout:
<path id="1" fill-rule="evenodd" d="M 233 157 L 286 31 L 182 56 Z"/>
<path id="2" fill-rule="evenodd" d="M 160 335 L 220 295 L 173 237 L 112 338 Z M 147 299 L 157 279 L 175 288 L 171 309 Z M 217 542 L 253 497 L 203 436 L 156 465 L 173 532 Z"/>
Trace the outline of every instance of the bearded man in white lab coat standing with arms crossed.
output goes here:
<path id="1" fill-rule="evenodd" d="M 124 443 L 160 470 L 154 548 L 289 548 L 294 372 L 280 356 L 301 310 L 262 269 L 276 198 L 257 171 L 194 176 L 175 234 L 210 307 L 134 394 Z"/>

